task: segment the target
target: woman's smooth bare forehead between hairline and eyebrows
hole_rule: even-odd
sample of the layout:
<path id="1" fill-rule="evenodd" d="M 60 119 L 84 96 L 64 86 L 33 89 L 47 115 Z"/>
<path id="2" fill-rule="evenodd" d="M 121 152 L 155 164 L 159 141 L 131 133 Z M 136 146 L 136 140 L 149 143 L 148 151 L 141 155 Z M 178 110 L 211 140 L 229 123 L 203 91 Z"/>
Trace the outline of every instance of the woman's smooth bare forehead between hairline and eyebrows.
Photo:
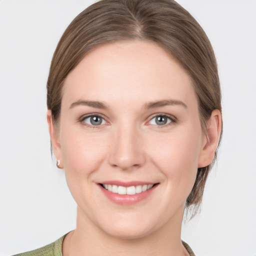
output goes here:
<path id="1" fill-rule="evenodd" d="M 186 71 L 163 48 L 140 40 L 101 45 L 78 63 L 66 77 L 62 100 L 88 97 L 109 102 L 116 97 L 136 102 L 173 98 L 196 104 Z"/>

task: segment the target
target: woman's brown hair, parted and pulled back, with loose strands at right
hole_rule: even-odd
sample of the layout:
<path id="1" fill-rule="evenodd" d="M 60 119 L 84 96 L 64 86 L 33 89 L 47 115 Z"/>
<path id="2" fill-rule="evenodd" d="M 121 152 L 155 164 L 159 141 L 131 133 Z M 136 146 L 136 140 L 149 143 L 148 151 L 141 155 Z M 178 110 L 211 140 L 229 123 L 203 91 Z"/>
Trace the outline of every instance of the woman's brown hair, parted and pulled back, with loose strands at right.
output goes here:
<path id="1" fill-rule="evenodd" d="M 211 112 L 214 109 L 221 112 L 217 64 L 201 26 L 174 0 L 100 0 L 73 19 L 58 42 L 47 80 L 47 107 L 56 126 L 62 86 L 68 73 L 97 46 L 136 39 L 157 43 L 187 71 L 193 81 L 201 126 L 205 130 Z M 186 208 L 192 206 L 194 214 L 212 164 L 198 168 L 187 197 Z"/>

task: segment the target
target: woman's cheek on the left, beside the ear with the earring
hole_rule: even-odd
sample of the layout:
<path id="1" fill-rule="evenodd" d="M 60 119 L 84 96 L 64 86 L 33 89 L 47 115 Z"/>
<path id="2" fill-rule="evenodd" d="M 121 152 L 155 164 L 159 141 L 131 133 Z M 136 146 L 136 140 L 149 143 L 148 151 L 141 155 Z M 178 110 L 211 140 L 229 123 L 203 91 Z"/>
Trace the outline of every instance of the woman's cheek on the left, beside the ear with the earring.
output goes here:
<path id="1" fill-rule="evenodd" d="M 86 198 L 93 196 L 90 189 L 90 184 L 93 183 L 92 173 L 105 158 L 106 140 L 81 130 L 62 129 L 60 141 L 68 188 L 76 203 L 83 205 Z"/>

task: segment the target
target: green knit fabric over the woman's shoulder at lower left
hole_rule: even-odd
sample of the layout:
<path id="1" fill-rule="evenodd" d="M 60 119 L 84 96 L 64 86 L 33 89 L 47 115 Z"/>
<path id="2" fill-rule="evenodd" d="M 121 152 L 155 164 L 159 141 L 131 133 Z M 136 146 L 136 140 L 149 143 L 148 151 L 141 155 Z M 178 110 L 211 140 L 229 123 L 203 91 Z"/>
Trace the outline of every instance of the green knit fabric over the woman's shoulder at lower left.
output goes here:
<path id="1" fill-rule="evenodd" d="M 56 241 L 47 244 L 41 248 L 22 252 L 13 256 L 62 256 L 62 242 L 66 235 L 67 234 L 64 234 Z"/>

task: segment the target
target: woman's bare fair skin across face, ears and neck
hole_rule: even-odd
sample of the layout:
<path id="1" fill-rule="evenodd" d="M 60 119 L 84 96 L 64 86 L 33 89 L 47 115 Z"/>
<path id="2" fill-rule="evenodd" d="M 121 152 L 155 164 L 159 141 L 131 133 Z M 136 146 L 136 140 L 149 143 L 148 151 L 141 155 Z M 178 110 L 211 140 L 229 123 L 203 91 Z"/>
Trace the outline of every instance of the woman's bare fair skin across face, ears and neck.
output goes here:
<path id="1" fill-rule="evenodd" d="M 175 102 L 152 104 L 166 100 Z M 90 114 L 102 123 L 93 126 Z M 157 125 L 155 115 L 167 115 L 167 123 Z M 59 126 L 50 110 L 47 120 L 77 202 L 77 227 L 64 239 L 64 256 L 188 255 L 180 240 L 185 200 L 197 168 L 213 159 L 221 118 L 214 110 L 202 131 L 192 81 L 168 53 L 146 41 L 94 49 L 65 80 Z M 102 193 L 104 180 L 158 185 L 142 201 L 120 205 Z"/>

